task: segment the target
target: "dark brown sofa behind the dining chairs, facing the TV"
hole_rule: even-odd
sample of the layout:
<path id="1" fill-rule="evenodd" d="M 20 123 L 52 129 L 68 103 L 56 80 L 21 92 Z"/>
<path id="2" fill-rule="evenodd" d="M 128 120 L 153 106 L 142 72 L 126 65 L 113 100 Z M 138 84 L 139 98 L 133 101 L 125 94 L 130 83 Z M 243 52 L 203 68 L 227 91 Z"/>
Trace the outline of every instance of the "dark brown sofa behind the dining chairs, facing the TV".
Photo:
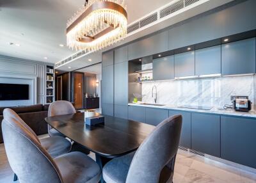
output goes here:
<path id="1" fill-rule="evenodd" d="M 36 135 L 47 134 L 47 117 L 49 105 L 36 104 L 33 106 L 0 107 L 0 143 L 3 143 L 1 123 L 3 121 L 3 110 L 10 108 L 17 113 L 24 122 L 36 133 Z"/>

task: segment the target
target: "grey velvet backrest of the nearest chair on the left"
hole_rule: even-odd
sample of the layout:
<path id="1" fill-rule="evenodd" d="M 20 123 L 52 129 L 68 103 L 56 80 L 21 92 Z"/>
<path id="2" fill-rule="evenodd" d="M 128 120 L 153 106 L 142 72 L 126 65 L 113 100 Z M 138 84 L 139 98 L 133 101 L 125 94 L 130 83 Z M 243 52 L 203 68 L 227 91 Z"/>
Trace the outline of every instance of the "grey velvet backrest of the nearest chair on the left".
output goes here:
<path id="1" fill-rule="evenodd" d="M 11 109 L 4 109 L 2 130 L 8 161 L 19 182 L 63 182 L 51 155 L 12 113 Z"/>

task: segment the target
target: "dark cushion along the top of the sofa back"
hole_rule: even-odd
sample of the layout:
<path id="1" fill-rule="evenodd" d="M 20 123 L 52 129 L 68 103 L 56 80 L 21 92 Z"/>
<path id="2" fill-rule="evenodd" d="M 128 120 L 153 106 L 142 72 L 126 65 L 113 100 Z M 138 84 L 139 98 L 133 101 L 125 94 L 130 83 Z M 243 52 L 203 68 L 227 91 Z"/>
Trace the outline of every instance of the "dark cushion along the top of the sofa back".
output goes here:
<path id="1" fill-rule="evenodd" d="M 3 111 L 6 108 L 12 109 L 17 114 L 33 113 L 33 112 L 43 111 L 43 105 L 42 104 L 36 104 L 36 105 L 32 105 L 32 106 L 0 107 L 0 115 L 3 115 Z"/>

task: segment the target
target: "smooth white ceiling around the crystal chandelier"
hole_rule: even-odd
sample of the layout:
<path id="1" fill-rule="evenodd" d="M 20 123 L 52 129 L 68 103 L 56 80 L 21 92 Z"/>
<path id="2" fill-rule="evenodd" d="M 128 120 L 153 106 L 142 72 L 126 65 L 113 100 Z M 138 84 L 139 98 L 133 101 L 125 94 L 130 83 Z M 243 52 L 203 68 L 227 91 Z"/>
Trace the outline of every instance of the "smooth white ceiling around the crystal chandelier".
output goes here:
<path id="1" fill-rule="evenodd" d="M 171 1 L 127 0 L 128 22 Z M 51 63 L 74 54 L 59 44 L 65 45 L 67 20 L 83 4 L 84 0 L 0 0 L 0 54 Z"/>

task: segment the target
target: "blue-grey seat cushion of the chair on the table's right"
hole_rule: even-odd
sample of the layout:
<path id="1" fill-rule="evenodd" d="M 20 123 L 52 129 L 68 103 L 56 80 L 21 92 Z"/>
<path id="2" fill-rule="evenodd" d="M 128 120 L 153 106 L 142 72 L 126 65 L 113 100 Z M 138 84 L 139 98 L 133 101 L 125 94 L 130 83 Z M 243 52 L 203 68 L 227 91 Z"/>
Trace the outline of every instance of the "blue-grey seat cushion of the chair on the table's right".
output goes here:
<path id="1" fill-rule="evenodd" d="M 109 161 L 102 170 L 105 182 L 125 183 L 134 154 L 135 152 L 132 152 Z"/>

